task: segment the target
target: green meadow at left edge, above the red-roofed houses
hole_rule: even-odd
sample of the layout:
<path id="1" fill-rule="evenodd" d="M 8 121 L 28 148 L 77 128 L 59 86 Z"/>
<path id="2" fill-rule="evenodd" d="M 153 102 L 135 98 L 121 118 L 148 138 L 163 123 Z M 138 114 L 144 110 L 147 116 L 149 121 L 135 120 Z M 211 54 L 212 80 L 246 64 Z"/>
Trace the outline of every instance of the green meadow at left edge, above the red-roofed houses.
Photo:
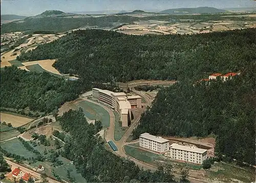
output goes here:
<path id="1" fill-rule="evenodd" d="M 18 139 L 2 142 L 1 147 L 10 153 L 14 153 L 24 157 L 36 157 L 36 154 L 27 150 Z"/>

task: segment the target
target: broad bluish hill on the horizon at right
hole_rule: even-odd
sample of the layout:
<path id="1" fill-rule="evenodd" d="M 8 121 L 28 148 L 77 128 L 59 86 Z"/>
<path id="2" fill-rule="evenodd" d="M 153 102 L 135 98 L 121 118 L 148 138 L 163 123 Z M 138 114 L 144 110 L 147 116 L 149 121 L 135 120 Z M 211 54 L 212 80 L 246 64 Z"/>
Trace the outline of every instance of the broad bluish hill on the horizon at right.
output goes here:
<path id="1" fill-rule="evenodd" d="M 225 13 L 226 10 L 221 10 L 212 7 L 198 7 L 198 8 L 176 8 L 160 11 L 161 14 L 188 14 L 188 13 Z"/>

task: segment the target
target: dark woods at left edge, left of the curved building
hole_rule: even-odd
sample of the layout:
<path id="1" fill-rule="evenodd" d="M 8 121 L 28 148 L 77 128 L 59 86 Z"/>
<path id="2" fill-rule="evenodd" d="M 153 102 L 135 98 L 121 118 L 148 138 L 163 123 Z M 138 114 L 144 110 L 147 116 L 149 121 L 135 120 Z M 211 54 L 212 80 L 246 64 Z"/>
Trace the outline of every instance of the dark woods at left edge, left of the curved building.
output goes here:
<path id="1" fill-rule="evenodd" d="M 46 72 L 37 74 L 15 66 L 5 67 L 1 70 L 1 107 L 51 112 L 90 88 L 82 80 L 65 81 Z"/>

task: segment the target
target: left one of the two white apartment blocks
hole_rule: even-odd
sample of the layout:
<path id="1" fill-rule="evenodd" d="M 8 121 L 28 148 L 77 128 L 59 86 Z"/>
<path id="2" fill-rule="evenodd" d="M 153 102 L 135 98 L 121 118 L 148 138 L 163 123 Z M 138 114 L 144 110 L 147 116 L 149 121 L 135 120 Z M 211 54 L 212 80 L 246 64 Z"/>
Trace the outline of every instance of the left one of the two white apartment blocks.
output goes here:
<path id="1" fill-rule="evenodd" d="M 163 153 L 169 150 L 169 141 L 161 136 L 154 136 L 150 133 L 140 134 L 140 147 Z"/>

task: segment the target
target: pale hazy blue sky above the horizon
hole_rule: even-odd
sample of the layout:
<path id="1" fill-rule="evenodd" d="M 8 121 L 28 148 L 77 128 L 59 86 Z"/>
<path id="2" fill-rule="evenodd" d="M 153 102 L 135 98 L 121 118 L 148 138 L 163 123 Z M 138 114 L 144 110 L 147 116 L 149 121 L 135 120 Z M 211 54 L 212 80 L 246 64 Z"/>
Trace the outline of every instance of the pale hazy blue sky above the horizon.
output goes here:
<path id="1" fill-rule="evenodd" d="M 1 14 L 33 16 L 45 10 L 63 12 L 112 11 L 112 10 L 165 10 L 169 8 L 215 8 L 256 7 L 253 0 L 1 0 Z"/>

